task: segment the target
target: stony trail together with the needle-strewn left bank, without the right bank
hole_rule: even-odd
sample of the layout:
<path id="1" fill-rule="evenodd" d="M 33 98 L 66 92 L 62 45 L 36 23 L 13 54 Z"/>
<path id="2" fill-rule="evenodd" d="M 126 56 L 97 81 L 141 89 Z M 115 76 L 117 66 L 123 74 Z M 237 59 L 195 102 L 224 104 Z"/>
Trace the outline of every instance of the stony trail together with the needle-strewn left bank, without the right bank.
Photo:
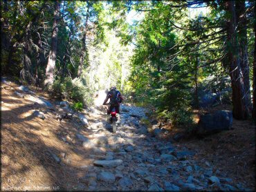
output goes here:
<path id="1" fill-rule="evenodd" d="M 252 191 L 196 150 L 158 140 L 144 108 L 122 105 L 112 133 L 99 106 L 74 113 L 7 81 L 1 95 L 3 191 Z"/>

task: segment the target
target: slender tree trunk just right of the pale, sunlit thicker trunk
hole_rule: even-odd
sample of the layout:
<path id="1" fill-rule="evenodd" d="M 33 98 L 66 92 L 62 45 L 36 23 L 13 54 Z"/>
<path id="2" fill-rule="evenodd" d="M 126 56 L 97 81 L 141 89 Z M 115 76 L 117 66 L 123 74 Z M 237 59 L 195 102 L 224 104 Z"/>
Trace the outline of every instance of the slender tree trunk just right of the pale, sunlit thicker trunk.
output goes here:
<path id="1" fill-rule="evenodd" d="M 83 37 L 82 37 L 82 50 L 81 50 L 80 62 L 79 62 L 78 70 L 77 70 L 77 77 L 80 77 L 80 75 L 82 74 L 82 66 L 84 65 L 84 58 L 87 54 L 86 33 L 87 33 L 87 30 L 88 30 L 89 8 L 90 8 L 90 4 L 87 1 L 85 29 L 84 29 L 84 34 L 83 34 Z"/>

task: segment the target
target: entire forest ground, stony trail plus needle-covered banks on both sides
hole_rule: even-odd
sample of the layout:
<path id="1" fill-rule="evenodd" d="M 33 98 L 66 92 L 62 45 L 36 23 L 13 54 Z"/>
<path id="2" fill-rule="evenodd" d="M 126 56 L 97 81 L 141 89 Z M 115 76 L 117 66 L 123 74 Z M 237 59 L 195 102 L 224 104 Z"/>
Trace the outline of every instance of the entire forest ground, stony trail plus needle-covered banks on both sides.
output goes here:
<path id="1" fill-rule="evenodd" d="M 34 87 L 35 97 L 55 103 Z M 1 190 L 162 191 L 255 189 L 255 128 L 203 139 L 158 140 L 145 133 L 145 109 L 122 105 L 116 133 L 99 108 L 84 111 L 89 128 L 55 117 L 15 83 L 1 84 Z M 42 111 L 45 119 L 34 115 Z M 106 161 L 101 161 L 106 160 Z"/>

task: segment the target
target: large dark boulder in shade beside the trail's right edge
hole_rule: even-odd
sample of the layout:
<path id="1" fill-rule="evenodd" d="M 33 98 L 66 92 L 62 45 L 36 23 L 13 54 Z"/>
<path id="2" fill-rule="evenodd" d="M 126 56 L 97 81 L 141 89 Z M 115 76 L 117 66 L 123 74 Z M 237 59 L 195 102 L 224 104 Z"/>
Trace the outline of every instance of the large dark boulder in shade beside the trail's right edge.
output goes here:
<path id="1" fill-rule="evenodd" d="M 201 115 L 197 133 L 203 135 L 218 131 L 229 130 L 232 126 L 232 112 L 217 111 L 213 114 Z"/>

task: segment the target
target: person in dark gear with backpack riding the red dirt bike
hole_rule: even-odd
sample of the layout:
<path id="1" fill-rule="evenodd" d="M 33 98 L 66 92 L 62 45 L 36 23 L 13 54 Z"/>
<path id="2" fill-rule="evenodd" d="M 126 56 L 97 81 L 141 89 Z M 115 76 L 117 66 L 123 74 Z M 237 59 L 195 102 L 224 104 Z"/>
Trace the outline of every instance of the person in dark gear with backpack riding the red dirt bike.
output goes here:
<path id="1" fill-rule="evenodd" d="M 112 109 L 116 107 L 116 113 L 120 112 L 120 104 L 122 103 L 122 95 L 119 92 L 119 90 L 116 90 L 116 86 L 111 86 L 109 93 L 107 93 L 107 97 L 103 102 L 103 105 L 107 103 L 107 101 L 110 99 L 110 106 L 107 111 L 107 114 L 110 114 Z"/>

